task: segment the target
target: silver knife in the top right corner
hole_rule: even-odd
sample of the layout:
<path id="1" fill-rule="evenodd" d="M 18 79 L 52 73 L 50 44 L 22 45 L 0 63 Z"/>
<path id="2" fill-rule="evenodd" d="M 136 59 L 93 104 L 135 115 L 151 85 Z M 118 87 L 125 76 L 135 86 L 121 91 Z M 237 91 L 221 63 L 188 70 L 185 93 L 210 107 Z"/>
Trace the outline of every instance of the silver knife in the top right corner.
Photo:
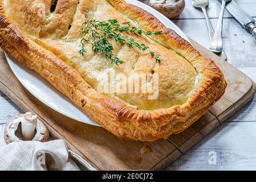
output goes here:
<path id="1" fill-rule="evenodd" d="M 221 2 L 221 0 L 219 0 Z M 242 25 L 245 30 L 250 32 L 256 39 L 255 19 L 253 19 L 245 10 L 242 9 L 234 0 L 227 3 L 226 10 Z"/>

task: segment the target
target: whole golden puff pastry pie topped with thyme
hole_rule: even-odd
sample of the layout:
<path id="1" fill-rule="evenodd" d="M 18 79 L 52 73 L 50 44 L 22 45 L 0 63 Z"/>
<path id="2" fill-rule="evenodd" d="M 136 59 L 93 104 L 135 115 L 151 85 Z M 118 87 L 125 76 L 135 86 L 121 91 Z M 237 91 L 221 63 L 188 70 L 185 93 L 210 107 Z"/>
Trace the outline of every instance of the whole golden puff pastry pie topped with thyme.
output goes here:
<path id="1" fill-rule="evenodd" d="M 6 53 L 119 138 L 180 133 L 225 92 L 212 60 L 123 0 L 0 2 Z"/>

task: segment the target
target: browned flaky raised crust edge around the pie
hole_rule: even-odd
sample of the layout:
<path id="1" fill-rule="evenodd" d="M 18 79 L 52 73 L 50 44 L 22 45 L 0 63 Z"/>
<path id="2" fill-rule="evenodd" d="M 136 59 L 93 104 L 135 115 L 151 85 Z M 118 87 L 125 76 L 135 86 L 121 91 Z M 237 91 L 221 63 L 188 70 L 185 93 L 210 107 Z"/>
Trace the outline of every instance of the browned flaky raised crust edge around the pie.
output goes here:
<path id="1" fill-rule="evenodd" d="M 0 6 L 0 46 L 14 60 L 39 73 L 51 85 L 81 107 L 94 121 L 119 138 L 153 141 L 167 139 L 188 128 L 225 92 L 223 73 L 192 45 L 155 16 L 123 0 L 109 0 L 115 9 L 137 22 L 145 31 L 163 33 L 150 38 L 190 61 L 201 79 L 188 101 L 168 109 L 138 110 L 115 98 L 96 92 L 72 67 L 52 52 L 26 38 Z"/>

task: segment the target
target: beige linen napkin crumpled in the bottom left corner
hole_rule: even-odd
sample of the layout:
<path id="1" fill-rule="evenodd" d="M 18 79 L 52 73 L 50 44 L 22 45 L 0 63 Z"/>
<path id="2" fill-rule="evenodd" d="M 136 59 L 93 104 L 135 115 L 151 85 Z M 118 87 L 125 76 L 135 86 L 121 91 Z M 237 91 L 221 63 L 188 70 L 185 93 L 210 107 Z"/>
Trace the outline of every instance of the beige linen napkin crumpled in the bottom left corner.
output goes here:
<path id="1" fill-rule="evenodd" d="M 0 170 L 95 170 L 68 151 L 64 140 L 13 142 L 0 147 Z"/>

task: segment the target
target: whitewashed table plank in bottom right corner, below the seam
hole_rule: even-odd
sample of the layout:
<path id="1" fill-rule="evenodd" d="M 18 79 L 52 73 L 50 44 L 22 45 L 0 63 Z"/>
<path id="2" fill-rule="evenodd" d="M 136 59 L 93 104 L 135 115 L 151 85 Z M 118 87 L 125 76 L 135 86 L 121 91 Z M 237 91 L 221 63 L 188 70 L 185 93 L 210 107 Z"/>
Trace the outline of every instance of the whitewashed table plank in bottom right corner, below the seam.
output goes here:
<path id="1" fill-rule="evenodd" d="M 255 170 L 256 122 L 224 122 L 166 170 Z M 210 165 L 215 152 L 216 164 Z"/>

